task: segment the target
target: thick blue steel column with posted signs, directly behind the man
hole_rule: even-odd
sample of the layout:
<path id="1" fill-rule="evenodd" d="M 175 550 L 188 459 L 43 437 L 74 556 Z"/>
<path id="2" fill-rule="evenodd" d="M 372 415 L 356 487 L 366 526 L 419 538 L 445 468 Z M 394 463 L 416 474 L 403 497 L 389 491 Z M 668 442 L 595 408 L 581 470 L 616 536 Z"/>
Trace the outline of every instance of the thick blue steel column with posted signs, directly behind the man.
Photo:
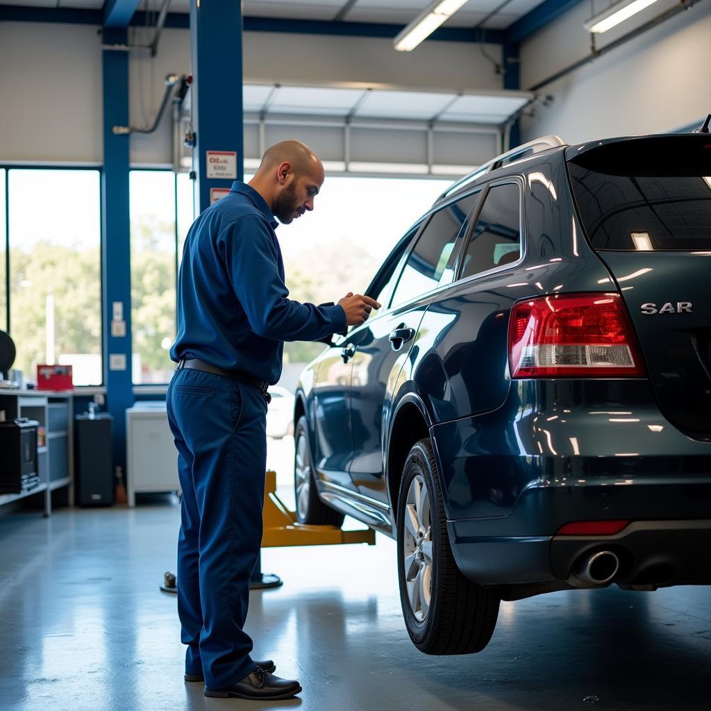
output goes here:
<path id="1" fill-rule="evenodd" d="M 237 179 L 243 178 L 242 2 L 190 4 L 191 100 L 196 132 L 196 203 L 210 205 L 210 188 L 229 188 L 233 178 L 207 178 L 206 151 L 236 151 Z"/>

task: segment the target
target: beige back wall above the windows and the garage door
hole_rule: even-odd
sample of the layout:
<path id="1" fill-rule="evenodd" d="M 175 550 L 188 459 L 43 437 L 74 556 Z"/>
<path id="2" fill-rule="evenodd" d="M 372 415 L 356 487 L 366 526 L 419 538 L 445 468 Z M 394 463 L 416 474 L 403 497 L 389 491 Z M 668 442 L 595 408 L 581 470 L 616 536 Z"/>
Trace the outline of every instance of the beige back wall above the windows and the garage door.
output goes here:
<path id="1" fill-rule="evenodd" d="M 0 162 L 102 161 L 102 50 L 97 27 L 0 23 Z M 152 31 L 135 28 L 132 43 Z M 486 46 L 500 59 L 498 46 Z M 500 89 L 479 46 L 430 41 L 400 53 L 378 38 L 245 33 L 245 80 L 377 82 L 412 88 Z M 132 53 L 132 125 L 152 124 L 166 74 L 188 73 L 187 30 L 166 29 L 156 58 Z M 142 105 L 141 105 L 142 97 Z M 156 133 L 134 134 L 134 164 L 170 164 L 170 111 Z"/>

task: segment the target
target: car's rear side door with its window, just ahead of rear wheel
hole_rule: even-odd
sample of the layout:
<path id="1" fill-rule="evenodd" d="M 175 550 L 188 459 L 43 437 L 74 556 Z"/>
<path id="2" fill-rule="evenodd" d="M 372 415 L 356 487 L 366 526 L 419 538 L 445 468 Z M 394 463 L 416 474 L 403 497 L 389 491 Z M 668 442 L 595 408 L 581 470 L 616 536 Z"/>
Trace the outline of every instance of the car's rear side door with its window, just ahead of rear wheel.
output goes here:
<path id="1" fill-rule="evenodd" d="M 478 195 L 458 198 L 436 210 L 407 254 L 390 306 L 351 333 L 351 479 L 369 498 L 387 504 L 383 442 L 392 390 L 415 343 L 426 294 L 453 277 L 454 245 Z M 460 240 L 461 241 L 461 240 Z"/>

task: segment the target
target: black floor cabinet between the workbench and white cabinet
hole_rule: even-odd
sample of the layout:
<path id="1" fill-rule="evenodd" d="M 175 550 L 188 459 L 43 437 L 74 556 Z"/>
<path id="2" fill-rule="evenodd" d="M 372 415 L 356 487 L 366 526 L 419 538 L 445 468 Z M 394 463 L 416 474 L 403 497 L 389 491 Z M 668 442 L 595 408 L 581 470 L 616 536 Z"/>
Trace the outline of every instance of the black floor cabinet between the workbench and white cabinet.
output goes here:
<path id="1" fill-rule="evenodd" d="M 75 503 L 78 506 L 112 506 L 113 417 L 102 412 L 77 415 L 74 422 Z"/>

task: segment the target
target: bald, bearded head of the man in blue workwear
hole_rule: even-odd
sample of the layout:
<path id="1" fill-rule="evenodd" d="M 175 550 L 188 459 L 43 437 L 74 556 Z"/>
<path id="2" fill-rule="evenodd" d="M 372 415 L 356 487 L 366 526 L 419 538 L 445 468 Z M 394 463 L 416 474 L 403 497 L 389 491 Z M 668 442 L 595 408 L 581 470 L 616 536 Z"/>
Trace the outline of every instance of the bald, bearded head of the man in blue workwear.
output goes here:
<path id="1" fill-rule="evenodd" d="M 260 193 L 279 222 L 288 225 L 314 209 L 326 175 L 314 151 L 301 141 L 282 141 L 267 149 L 250 186 Z"/>

